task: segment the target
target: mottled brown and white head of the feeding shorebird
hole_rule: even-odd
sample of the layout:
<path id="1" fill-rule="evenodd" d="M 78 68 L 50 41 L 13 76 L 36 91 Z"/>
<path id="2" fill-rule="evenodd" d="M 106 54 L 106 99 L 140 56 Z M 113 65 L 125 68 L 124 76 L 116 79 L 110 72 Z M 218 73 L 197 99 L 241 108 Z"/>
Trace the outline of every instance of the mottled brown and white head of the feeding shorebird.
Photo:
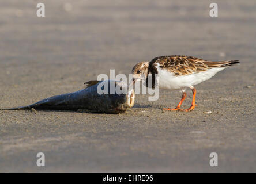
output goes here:
<path id="1" fill-rule="evenodd" d="M 131 72 L 133 73 L 133 83 L 146 79 L 148 75 L 149 62 L 140 62 L 133 67 Z"/>

